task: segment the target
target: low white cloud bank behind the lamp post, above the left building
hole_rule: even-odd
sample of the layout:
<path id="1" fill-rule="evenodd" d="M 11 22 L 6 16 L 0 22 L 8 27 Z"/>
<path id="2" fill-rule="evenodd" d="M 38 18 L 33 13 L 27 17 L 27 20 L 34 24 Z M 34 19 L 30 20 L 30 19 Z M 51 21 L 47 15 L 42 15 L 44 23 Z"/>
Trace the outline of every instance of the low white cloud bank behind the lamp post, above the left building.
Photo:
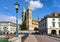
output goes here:
<path id="1" fill-rule="evenodd" d="M 0 21 L 11 21 L 13 23 L 16 23 L 16 17 L 0 14 Z M 21 24 L 21 19 L 20 18 L 18 19 L 18 23 Z"/>

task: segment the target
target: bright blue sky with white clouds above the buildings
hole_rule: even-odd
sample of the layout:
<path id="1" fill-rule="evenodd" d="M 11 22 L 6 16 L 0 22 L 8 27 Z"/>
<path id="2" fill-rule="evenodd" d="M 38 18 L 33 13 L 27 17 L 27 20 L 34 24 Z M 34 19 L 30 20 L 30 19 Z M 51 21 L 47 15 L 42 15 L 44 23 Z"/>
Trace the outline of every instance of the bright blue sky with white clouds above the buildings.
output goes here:
<path id="1" fill-rule="evenodd" d="M 32 10 L 32 18 L 41 19 L 52 12 L 60 12 L 60 0 L 0 0 L 0 21 L 16 22 L 16 10 L 14 3 L 18 1 L 20 4 L 18 10 L 18 23 L 22 22 L 22 8 L 27 10 L 28 3 Z"/>

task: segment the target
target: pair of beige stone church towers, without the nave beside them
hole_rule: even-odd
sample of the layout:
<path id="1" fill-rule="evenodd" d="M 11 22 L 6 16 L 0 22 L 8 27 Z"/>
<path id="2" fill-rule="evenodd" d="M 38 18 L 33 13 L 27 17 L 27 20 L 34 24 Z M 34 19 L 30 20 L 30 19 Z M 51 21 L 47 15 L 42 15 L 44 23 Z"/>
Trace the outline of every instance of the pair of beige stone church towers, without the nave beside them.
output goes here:
<path id="1" fill-rule="evenodd" d="M 30 9 L 30 4 L 28 4 L 27 11 L 25 8 L 22 10 L 22 22 L 26 22 L 27 28 L 32 30 L 32 11 Z"/>

